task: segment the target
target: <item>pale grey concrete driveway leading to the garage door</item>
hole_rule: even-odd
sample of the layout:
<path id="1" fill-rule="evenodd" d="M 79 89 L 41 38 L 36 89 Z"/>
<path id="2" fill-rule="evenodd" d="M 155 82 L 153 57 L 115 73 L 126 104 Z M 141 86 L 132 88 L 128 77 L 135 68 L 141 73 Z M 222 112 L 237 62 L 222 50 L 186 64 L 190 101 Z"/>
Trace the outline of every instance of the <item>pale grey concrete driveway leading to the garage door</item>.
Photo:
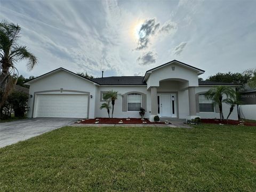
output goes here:
<path id="1" fill-rule="evenodd" d="M 76 122 L 74 118 L 29 118 L 0 123 L 0 147 L 35 137 Z"/>

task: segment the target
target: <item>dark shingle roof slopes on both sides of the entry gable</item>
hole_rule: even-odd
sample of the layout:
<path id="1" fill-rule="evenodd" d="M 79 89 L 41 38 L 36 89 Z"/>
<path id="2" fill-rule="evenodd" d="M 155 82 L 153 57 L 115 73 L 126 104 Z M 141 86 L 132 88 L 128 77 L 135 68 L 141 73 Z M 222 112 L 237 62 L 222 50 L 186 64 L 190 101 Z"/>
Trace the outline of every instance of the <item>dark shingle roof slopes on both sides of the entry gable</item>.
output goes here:
<path id="1" fill-rule="evenodd" d="M 100 85 L 147 85 L 143 83 L 143 76 L 115 76 L 93 78 L 92 81 Z M 198 81 L 199 85 L 234 85 L 232 83 Z"/>

